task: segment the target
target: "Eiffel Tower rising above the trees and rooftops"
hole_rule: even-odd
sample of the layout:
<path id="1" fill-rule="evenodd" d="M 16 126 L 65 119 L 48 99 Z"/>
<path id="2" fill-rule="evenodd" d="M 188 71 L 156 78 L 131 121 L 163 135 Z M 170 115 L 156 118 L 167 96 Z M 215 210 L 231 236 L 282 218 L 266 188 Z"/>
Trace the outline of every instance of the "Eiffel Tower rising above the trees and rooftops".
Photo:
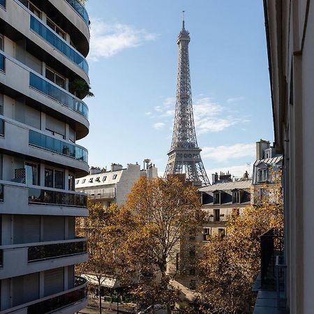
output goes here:
<path id="1" fill-rule="evenodd" d="M 184 13 L 184 12 L 183 12 Z M 168 162 L 164 177 L 168 174 L 186 174 L 186 179 L 193 181 L 195 186 L 209 185 L 209 179 L 197 145 L 192 95 L 190 91 L 190 65 L 188 61 L 188 43 L 190 33 L 184 27 L 179 33 L 179 66 L 177 78 L 177 99 L 172 134 L 172 144 L 168 152 Z"/>

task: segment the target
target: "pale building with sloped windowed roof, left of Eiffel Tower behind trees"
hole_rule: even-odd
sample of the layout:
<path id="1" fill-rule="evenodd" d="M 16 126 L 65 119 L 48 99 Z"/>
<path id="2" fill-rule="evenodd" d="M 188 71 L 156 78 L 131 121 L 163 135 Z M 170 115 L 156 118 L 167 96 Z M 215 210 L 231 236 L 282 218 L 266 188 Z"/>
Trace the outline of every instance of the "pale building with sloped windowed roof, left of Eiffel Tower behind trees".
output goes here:
<path id="1" fill-rule="evenodd" d="M 142 170 L 137 163 L 128 163 L 126 168 L 112 163 L 109 171 L 91 168 L 89 175 L 76 179 L 75 190 L 87 193 L 89 200 L 100 202 L 105 207 L 109 207 L 110 204 L 121 205 L 126 202 L 133 184 L 141 176 L 147 176 L 149 179 L 157 178 L 158 170 L 151 163 Z"/>

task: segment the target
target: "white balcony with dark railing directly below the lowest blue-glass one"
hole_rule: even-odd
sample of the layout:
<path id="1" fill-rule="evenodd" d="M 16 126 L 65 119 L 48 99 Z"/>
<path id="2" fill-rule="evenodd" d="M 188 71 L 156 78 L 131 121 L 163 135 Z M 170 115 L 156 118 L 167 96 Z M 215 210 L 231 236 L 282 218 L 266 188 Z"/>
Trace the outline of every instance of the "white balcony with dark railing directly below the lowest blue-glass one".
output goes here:
<path id="1" fill-rule="evenodd" d="M 0 180 L 0 214 L 88 216 L 87 195 Z"/>

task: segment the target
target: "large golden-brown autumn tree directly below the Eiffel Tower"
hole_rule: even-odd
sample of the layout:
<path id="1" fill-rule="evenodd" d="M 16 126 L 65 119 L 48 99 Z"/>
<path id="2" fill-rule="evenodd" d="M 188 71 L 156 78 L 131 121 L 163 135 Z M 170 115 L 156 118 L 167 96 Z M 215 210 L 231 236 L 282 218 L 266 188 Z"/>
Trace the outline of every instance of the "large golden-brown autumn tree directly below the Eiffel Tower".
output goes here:
<path id="1" fill-rule="evenodd" d="M 174 261 L 177 247 L 191 228 L 202 225 L 200 195 L 185 187 L 176 176 L 167 180 L 141 177 L 120 211 L 124 229 L 124 265 L 137 277 L 133 293 L 151 303 L 171 304 L 178 292 L 169 287 L 172 276 L 167 264 Z M 181 246 L 182 247 L 182 246 Z"/>

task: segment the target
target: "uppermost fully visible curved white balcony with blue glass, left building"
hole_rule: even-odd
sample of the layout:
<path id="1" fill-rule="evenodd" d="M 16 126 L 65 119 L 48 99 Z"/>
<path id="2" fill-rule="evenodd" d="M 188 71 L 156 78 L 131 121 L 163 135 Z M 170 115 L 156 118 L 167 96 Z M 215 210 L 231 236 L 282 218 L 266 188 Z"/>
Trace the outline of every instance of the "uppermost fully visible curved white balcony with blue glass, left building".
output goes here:
<path id="1" fill-rule="evenodd" d="M 14 19 L 12 18 L 12 15 L 14 15 Z M 43 31 L 47 26 L 20 3 L 20 1 L 6 1 L 6 10 L 0 10 L 0 18 L 22 33 L 31 43 L 35 43 L 40 47 L 43 50 L 43 53 L 50 54 L 50 56 L 63 63 L 89 84 L 89 77 L 86 73 L 88 65 L 84 56 L 66 43 L 66 41 L 58 36 L 57 33 L 54 33 L 50 29 Z M 40 29 L 42 29 L 43 33 L 40 34 L 36 32 L 36 30 L 31 29 L 31 19 L 40 24 Z M 47 36 L 49 36 L 49 38 Z"/>

